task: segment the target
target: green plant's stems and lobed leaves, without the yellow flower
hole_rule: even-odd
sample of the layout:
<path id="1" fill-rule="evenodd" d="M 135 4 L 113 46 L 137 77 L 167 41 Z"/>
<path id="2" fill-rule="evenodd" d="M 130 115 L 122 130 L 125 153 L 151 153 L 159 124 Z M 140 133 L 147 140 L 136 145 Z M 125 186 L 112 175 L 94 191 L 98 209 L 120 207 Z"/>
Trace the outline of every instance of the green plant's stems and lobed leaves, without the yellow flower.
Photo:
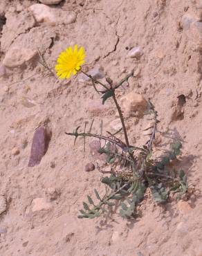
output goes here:
<path id="1" fill-rule="evenodd" d="M 82 73 L 84 72 L 82 71 Z M 176 172 L 174 167 L 172 167 L 177 156 L 181 154 L 181 142 L 176 140 L 172 143 L 170 150 L 165 152 L 160 158 L 154 159 L 152 157 L 152 146 L 159 122 L 157 119 L 158 113 L 152 102 L 148 102 L 147 113 L 145 113 L 151 117 L 149 120 L 154 121 L 154 125 L 148 128 L 152 129 L 149 140 L 143 147 L 136 147 L 129 144 L 125 120 L 116 99 L 115 91 L 123 82 L 129 80 L 129 77 L 134 75 L 134 71 L 129 73 L 129 75 L 116 85 L 113 85 L 113 81 L 110 78 L 106 79 L 107 84 L 103 84 L 95 80 L 91 75 L 87 73 L 84 74 L 90 77 L 95 91 L 102 93 L 102 104 L 109 98 L 113 99 L 118 109 L 122 129 L 115 134 L 108 132 L 108 136 L 103 136 L 101 122 L 100 134 L 93 134 L 91 133 L 92 122 L 88 132 L 86 132 L 85 125 L 84 132 L 82 133 L 78 132 L 80 127 L 77 127 L 72 133 L 66 133 L 68 136 L 75 136 L 75 140 L 77 137 L 82 136 L 84 138 L 84 145 L 86 137 L 104 140 L 105 145 L 100 148 L 100 154 L 107 154 L 107 163 L 112 167 L 110 171 L 111 175 L 104 176 L 102 179 L 102 183 L 107 185 L 109 190 L 106 190 L 106 193 L 102 197 L 96 189 L 94 190 L 98 203 L 94 203 L 91 196 L 88 195 L 88 202 L 83 202 L 84 209 L 80 210 L 78 217 L 89 219 L 100 217 L 101 214 L 108 211 L 109 207 L 115 205 L 115 201 L 121 202 L 120 216 L 124 218 L 136 217 L 136 206 L 143 200 L 147 188 L 151 190 L 156 203 L 165 203 L 171 193 L 177 193 L 178 197 L 185 194 L 188 188 L 185 172 L 183 172 L 183 170 Z M 97 84 L 101 84 L 104 90 L 98 91 L 96 88 Z M 121 131 L 124 133 L 125 141 L 117 138 L 117 134 Z"/>

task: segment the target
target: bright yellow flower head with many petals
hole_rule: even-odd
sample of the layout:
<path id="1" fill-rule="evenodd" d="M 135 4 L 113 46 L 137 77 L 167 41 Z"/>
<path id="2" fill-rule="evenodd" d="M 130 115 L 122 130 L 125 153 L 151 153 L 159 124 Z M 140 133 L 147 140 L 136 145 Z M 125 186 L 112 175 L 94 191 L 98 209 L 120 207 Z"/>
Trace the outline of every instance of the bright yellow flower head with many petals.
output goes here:
<path id="1" fill-rule="evenodd" d="M 57 76 L 61 79 L 71 77 L 71 73 L 75 75 L 77 71 L 80 71 L 81 65 L 84 64 L 84 48 L 80 47 L 78 51 L 77 44 L 74 49 L 69 46 L 66 51 L 60 53 L 55 70 Z"/>

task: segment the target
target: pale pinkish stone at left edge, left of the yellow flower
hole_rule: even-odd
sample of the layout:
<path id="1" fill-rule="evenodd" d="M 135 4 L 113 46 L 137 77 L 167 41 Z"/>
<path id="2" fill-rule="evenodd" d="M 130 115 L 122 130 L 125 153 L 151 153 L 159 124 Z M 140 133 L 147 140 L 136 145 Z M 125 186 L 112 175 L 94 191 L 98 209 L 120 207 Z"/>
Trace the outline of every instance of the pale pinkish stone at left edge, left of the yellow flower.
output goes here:
<path id="1" fill-rule="evenodd" d="M 13 47 L 10 48 L 3 60 L 3 65 L 8 68 L 16 68 L 22 66 L 26 62 L 30 62 L 36 57 L 37 51 L 28 48 Z"/>

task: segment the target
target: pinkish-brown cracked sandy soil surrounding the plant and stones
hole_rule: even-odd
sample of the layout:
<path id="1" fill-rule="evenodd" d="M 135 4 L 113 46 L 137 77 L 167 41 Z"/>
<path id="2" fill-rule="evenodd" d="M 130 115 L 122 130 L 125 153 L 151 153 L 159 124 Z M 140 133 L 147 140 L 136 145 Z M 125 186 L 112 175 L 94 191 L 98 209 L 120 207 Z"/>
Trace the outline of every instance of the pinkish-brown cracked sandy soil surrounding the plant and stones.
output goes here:
<path id="1" fill-rule="evenodd" d="M 30 6 L 35 3 L 0 3 L 0 63 L 7 65 L 6 70 L 0 65 L 0 210 L 6 208 L 0 215 L 0 254 L 201 256 L 201 1 L 65 0 L 48 6 L 59 17 L 52 24 L 49 18 L 33 17 Z M 137 77 L 120 89 L 118 98 L 131 91 L 150 98 L 160 130 L 184 140 L 178 168 L 196 190 L 187 202 L 161 207 L 147 199 L 142 216 L 134 221 L 117 214 L 77 219 L 86 194 L 93 194 L 93 188 L 102 193 L 104 187 L 98 170 L 84 171 L 86 163 L 94 161 L 89 147 L 84 153 L 80 139 L 73 147 L 73 138 L 64 132 L 92 118 L 93 131 L 99 131 L 101 118 L 109 130 L 116 109 L 110 100 L 103 109 L 80 75 L 66 84 L 39 73 L 44 69 L 35 60 L 37 48 L 54 66 L 58 54 L 73 44 L 84 46 L 89 69 L 99 64 L 115 81 L 135 68 Z M 143 51 L 138 60 L 127 57 L 135 46 Z M 178 114 L 177 97 L 182 94 L 185 104 Z M 33 102 L 31 107 L 28 102 Z M 131 141 L 143 143 L 145 120 L 130 118 L 127 124 Z M 28 167 L 39 125 L 51 129 L 52 138 L 41 163 Z M 168 141 L 162 136 L 159 149 Z"/>

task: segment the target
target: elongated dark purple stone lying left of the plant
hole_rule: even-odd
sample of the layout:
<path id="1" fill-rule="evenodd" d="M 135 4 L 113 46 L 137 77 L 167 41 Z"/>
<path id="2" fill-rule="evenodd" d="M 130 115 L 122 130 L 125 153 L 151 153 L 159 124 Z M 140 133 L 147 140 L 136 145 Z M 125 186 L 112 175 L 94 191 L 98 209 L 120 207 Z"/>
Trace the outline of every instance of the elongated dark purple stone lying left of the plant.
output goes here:
<path id="1" fill-rule="evenodd" d="M 28 166 L 39 165 L 44 154 L 48 149 L 48 143 L 50 142 L 50 136 L 45 127 L 39 127 L 36 129 L 33 136 L 33 144 L 31 148 L 30 161 Z"/>

